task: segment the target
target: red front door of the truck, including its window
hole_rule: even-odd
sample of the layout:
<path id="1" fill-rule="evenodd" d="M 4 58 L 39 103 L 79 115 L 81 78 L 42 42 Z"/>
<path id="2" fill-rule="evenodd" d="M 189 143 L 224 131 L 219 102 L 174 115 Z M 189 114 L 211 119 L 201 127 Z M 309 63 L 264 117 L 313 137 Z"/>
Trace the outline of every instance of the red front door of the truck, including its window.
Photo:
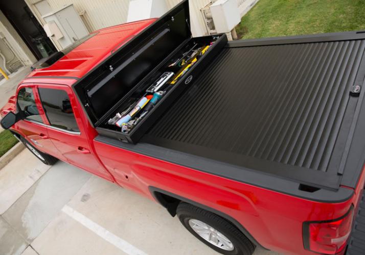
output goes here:
<path id="1" fill-rule="evenodd" d="M 44 125 L 44 114 L 40 105 L 36 104 L 36 93 L 33 87 L 22 86 L 17 95 L 17 112 L 22 112 L 25 119 L 17 122 L 22 135 L 36 148 L 47 154 L 58 156 L 58 151 L 48 138 Z"/>

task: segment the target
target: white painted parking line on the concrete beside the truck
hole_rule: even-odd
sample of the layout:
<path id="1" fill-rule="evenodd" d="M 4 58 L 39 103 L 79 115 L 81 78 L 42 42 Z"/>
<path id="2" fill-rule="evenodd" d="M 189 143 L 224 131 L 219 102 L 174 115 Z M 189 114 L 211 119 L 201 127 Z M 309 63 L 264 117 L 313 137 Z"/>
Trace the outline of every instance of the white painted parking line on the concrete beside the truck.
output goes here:
<path id="1" fill-rule="evenodd" d="M 112 245 L 118 247 L 122 251 L 130 254 L 130 255 L 147 255 L 147 253 L 143 252 L 142 250 L 134 247 L 127 241 L 123 240 L 122 238 L 114 235 L 107 231 L 104 227 L 98 225 L 94 221 L 90 220 L 89 218 L 85 217 L 81 213 L 75 211 L 69 206 L 64 206 L 62 208 L 62 212 L 69 215 L 71 218 L 76 220 L 77 222 L 81 223 L 89 230 L 93 231 L 95 234 L 103 238 L 105 241 L 111 243 Z"/>

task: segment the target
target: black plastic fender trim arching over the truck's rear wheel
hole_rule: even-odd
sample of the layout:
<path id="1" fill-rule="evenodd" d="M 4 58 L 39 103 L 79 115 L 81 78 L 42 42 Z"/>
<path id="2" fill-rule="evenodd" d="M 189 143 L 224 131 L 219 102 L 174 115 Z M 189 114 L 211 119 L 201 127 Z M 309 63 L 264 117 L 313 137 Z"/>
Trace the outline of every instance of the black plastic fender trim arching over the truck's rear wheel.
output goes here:
<path id="1" fill-rule="evenodd" d="M 213 208 L 210 208 L 208 206 L 204 206 L 202 205 L 201 203 L 198 203 L 198 202 L 195 202 L 193 200 L 190 200 L 188 198 L 185 198 L 185 197 L 182 197 L 182 196 L 179 196 L 179 195 L 176 195 L 176 194 L 173 194 L 171 192 L 168 192 L 166 190 L 162 190 L 162 189 L 159 189 L 159 188 L 156 188 L 156 187 L 153 187 L 153 186 L 149 186 L 148 187 L 149 191 L 151 192 L 151 195 L 153 196 L 153 198 L 160 204 L 162 205 L 163 207 L 166 208 L 166 205 L 164 205 L 164 203 L 161 201 L 161 199 L 158 199 L 158 196 L 156 193 L 162 193 L 162 194 L 165 194 L 165 195 L 168 195 L 168 196 L 171 196 L 173 198 L 177 198 L 179 199 L 180 201 L 184 201 L 184 202 L 187 202 L 187 203 L 190 203 L 191 205 L 193 206 L 196 206 L 196 207 L 199 207 L 199 208 L 202 208 L 204 210 L 207 210 L 209 212 L 212 212 L 212 213 L 215 213 L 217 214 L 218 216 L 226 219 L 226 220 L 229 220 L 232 224 L 234 224 L 251 242 L 253 242 L 256 246 L 259 246 L 261 248 L 264 248 L 266 249 L 265 247 L 263 247 L 258 241 L 256 241 L 256 239 L 246 230 L 246 228 L 244 228 L 242 226 L 241 223 L 239 223 L 237 220 L 235 220 L 234 218 L 232 218 L 231 216 L 223 213 L 223 212 L 220 212 L 220 211 L 217 211 Z M 167 209 L 167 208 L 166 208 Z M 266 249 L 268 250 L 268 249 Z"/>

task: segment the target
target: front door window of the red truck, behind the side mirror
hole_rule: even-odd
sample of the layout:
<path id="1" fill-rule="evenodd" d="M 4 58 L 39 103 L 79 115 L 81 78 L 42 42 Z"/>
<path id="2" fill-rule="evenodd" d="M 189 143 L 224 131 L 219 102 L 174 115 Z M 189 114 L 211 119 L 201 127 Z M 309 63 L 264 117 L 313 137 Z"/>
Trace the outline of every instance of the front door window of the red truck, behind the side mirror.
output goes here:
<path id="1" fill-rule="evenodd" d="M 22 88 L 19 90 L 17 104 L 18 110 L 26 115 L 26 119 L 43 123 L 35 104 L 32 88 Z"/>

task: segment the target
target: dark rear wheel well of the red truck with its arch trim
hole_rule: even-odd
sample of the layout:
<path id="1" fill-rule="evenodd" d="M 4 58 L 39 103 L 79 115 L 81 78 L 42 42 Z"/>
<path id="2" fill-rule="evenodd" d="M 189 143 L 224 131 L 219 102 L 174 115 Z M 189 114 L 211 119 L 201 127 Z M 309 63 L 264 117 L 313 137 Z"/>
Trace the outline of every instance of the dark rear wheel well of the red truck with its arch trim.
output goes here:
<path id="1" fill-rule="evenodd" d="M 172 217 L 174 217 L 176 215 L 176 209 L 180 202 L 190 203 L 193 206 L 210 211 L 210 212 L 222 217 L 226 221 L 230 222 L 232 225 L 236 226 L 238 228 L 238 230 L 241 231 L 256 246 L 259 246 L 265 250 L 268 250 L 265 247 L 263 247 L 260 243 L 258 243 L 256 241 L 256 239 L 251 234 L 249 234 L 249 232 L 241 225 L 241 223 L 239 223 L 237 220 L 235 220 L 231 216 L 226 215 L 225 213 L 219 212 L 213 208 L 201 205 L 200 203 L 194 202 L 190 199 L 180 197 L 180 196 L 170 193 L 168 191 L 164 191 L 164 190 L 161 190 L 161 189 L 158 189 L 155 187 L 151 187 L 151 186 L 149 187 L 149 190 L 150 190 L 152 196 L 154 197 L 154 199 L 160 205 L 165 207 Z"/>

